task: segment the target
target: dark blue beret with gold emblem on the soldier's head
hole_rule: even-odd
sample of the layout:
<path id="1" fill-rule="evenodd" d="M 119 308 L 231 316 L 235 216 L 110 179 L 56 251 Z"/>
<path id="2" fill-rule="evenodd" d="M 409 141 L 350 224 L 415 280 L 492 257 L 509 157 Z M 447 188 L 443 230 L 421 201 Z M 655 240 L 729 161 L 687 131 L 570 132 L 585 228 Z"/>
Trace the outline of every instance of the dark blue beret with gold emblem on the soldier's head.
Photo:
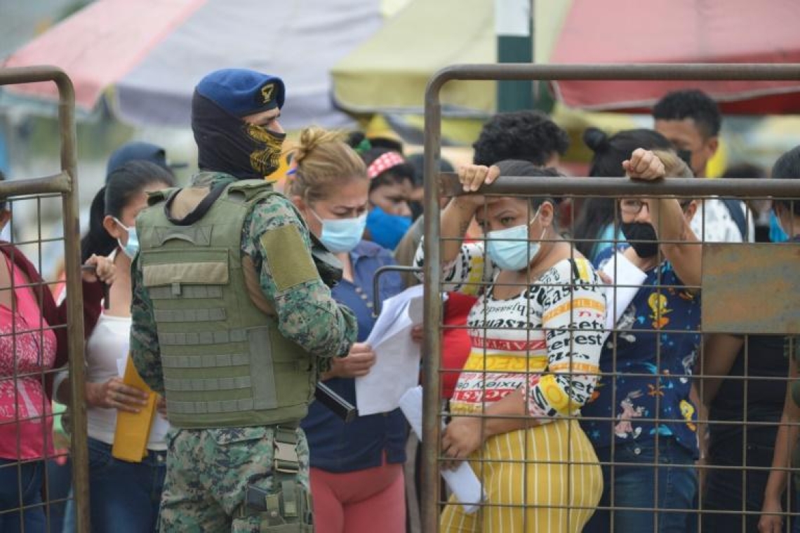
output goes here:
<path id="1" fill-rule="evenodd" d="M 280 109 L 286 95 L 281 78 L 245 69 L 214 70 L 196 90 L 237 117 Z"/>

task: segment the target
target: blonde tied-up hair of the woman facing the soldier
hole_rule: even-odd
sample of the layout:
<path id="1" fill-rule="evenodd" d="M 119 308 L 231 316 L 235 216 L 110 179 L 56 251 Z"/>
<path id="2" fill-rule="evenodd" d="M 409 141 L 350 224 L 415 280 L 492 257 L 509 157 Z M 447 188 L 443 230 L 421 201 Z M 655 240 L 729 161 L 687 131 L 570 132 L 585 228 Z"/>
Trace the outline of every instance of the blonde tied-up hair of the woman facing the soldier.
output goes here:
<path id="1" fill-rule="evenodd" d="M 338 186 L 353 179 L 367 180 L 366 165 L 337 131 L 311 126 L 300 133 L 293 149 L 288 191 L 307 203 L 323 200 Z"/>

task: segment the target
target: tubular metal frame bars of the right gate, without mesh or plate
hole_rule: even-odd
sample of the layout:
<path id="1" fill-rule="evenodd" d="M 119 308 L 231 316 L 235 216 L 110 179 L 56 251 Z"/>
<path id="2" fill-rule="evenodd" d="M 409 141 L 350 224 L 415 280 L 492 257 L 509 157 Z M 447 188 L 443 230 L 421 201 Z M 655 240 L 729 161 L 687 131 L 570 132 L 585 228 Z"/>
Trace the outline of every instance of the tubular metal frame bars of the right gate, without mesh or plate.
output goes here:
<path id="1" fill-rule="evenodd" d="M 640 65 L 454 65 L 439 70 L 425 90 L 425 340 L 422 375 L 425 383 L 422 415 L 422 531 L 439 531 L 438 457 L 439 370 L 441 368 L 442 300 L 439 237 L 439 199 L 458 196 L 462 189 L 452 173 L 440 173 L 442 149 L 442 87 L 457 80 L 800 80 L 800 64 L 640 64 Z M 433 179 L 431 179 L 433 178 Z M 540 177 L 535 181 L 501 177 L 478 193 L 501 195 L 597 196 L 760 196 L 800 197 L 800 180 L 700 180 L 670 178 L 659 182 L 621 181 L 618 178 Z"/>

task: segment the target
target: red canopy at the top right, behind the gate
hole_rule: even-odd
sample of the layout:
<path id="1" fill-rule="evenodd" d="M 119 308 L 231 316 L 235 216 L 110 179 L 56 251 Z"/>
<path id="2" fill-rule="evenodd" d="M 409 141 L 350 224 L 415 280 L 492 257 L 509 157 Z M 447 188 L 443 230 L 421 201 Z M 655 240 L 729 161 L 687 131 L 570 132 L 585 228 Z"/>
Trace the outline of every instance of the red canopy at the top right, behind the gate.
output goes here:
<path id="1" fill-rule="evenodd" d="M 552 63 L 800 63 L 797 0 L 574 0 Z M 800 64 L 798 64 L 800 71 Z M 800 82 L 553 82 L 570 107 L 642 111 L 702 89 L 723 113 L 800 111 Z"/>

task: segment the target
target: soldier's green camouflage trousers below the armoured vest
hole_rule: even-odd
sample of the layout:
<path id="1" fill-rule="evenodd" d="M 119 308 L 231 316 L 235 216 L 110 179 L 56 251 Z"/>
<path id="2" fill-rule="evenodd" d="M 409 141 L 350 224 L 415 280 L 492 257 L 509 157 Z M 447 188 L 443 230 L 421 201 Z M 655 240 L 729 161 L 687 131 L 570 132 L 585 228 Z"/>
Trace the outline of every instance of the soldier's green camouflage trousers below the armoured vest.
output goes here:
<path id="1" fill-rule="evenodd" d="M 168 440 L 161 533 L 314 531 L 301 429 L 173 429 Z"/>

